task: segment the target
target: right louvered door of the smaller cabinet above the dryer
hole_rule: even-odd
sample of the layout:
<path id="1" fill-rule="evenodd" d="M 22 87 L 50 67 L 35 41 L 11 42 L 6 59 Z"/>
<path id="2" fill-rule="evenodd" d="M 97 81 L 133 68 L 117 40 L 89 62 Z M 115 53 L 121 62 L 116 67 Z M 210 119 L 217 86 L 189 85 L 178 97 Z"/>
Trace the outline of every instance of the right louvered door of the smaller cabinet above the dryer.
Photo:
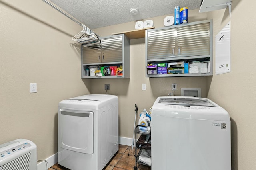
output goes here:
<path id="1" fill-rule="evenodd" d="M 122 61 L 122 36 L 101 39 L 102 63 Z"/>

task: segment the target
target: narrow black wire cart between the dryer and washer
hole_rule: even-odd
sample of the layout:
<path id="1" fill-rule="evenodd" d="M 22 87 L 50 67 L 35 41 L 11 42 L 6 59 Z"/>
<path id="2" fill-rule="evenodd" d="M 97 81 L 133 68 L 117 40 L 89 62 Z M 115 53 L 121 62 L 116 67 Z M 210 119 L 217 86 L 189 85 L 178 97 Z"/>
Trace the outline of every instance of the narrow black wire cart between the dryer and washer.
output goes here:
<path id="1" fill-rule="evenodd" d="M 144 128 L 144 129 L 142 129 Z M 146 128 L 146 129 L 145 129 Z M 137 125 L 135 127 L 135 166 L 133 167 L 134 170 L 138 170 L 137 165 L 142 164 L 145 166 L 151 166 L 151 127 L 150 126 L 142 126 Z M 137 134 L 140 135 L 137 141 Z M 150 164 L 144 163 L 140 160 L 139 156 L 146 155 L 147 158 L 150 159 Z"/>

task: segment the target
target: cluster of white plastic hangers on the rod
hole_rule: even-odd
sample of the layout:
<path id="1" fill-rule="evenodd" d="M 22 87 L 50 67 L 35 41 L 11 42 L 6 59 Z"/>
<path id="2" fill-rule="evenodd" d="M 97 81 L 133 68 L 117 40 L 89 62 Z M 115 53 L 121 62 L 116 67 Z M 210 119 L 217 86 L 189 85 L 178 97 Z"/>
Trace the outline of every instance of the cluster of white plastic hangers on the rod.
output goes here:
<path id="1" fill-rule="evenodd" d="M 80 43 L 84 46 L 86 45 L 92 45 L 94 43 L 100 43 L 100 39 L 98 36 L 94 34 L 92 30 L 90 30 L 88 27 L 83 25 L 83 30 L 76 34 L 72 40 L 76 41 L 77 43 Z"/>

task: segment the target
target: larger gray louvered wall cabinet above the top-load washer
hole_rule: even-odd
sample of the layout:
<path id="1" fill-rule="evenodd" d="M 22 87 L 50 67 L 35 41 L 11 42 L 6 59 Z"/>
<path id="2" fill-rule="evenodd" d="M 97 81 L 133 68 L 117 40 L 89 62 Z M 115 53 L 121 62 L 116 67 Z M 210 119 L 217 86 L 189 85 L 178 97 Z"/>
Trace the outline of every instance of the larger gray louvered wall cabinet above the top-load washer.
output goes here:
<path id="1" fill-rule="evenodd" d="M 213 20 L 148 29 L 145 34 L 146 77 L 213 75 Z M 208 63 L 207 73 L 148 73 L 148 65 L 194 61 Z"/>

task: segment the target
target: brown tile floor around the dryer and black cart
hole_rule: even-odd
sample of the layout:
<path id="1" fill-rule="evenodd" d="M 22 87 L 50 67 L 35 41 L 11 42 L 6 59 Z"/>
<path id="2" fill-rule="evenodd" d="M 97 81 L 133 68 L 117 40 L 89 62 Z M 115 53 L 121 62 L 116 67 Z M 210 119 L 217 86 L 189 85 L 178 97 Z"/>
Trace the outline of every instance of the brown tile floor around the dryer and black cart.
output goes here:
<path id="1" fill-rule="evenodd" d="M 130 151 L 129 151 L 130 149 Z M 129 155 L 128 155 L 129 153 Z M 138 149 L 137 149 L 138 154 Z M 126 145 L 119 145 L 119 150 L 116 156 L 109 162 L 109 164 L 105 167 L 104 170 L 134 170 L 135 166 L 135 148 L 133 150 L 131 147 Z M 138 170 L 151 170 L 150 166 L 144 166 L 141 164 L 137 164 Z M 50 167 L 49 170 L 68 170 L 66 168 L 62 168 L 58 164 Z"/>

